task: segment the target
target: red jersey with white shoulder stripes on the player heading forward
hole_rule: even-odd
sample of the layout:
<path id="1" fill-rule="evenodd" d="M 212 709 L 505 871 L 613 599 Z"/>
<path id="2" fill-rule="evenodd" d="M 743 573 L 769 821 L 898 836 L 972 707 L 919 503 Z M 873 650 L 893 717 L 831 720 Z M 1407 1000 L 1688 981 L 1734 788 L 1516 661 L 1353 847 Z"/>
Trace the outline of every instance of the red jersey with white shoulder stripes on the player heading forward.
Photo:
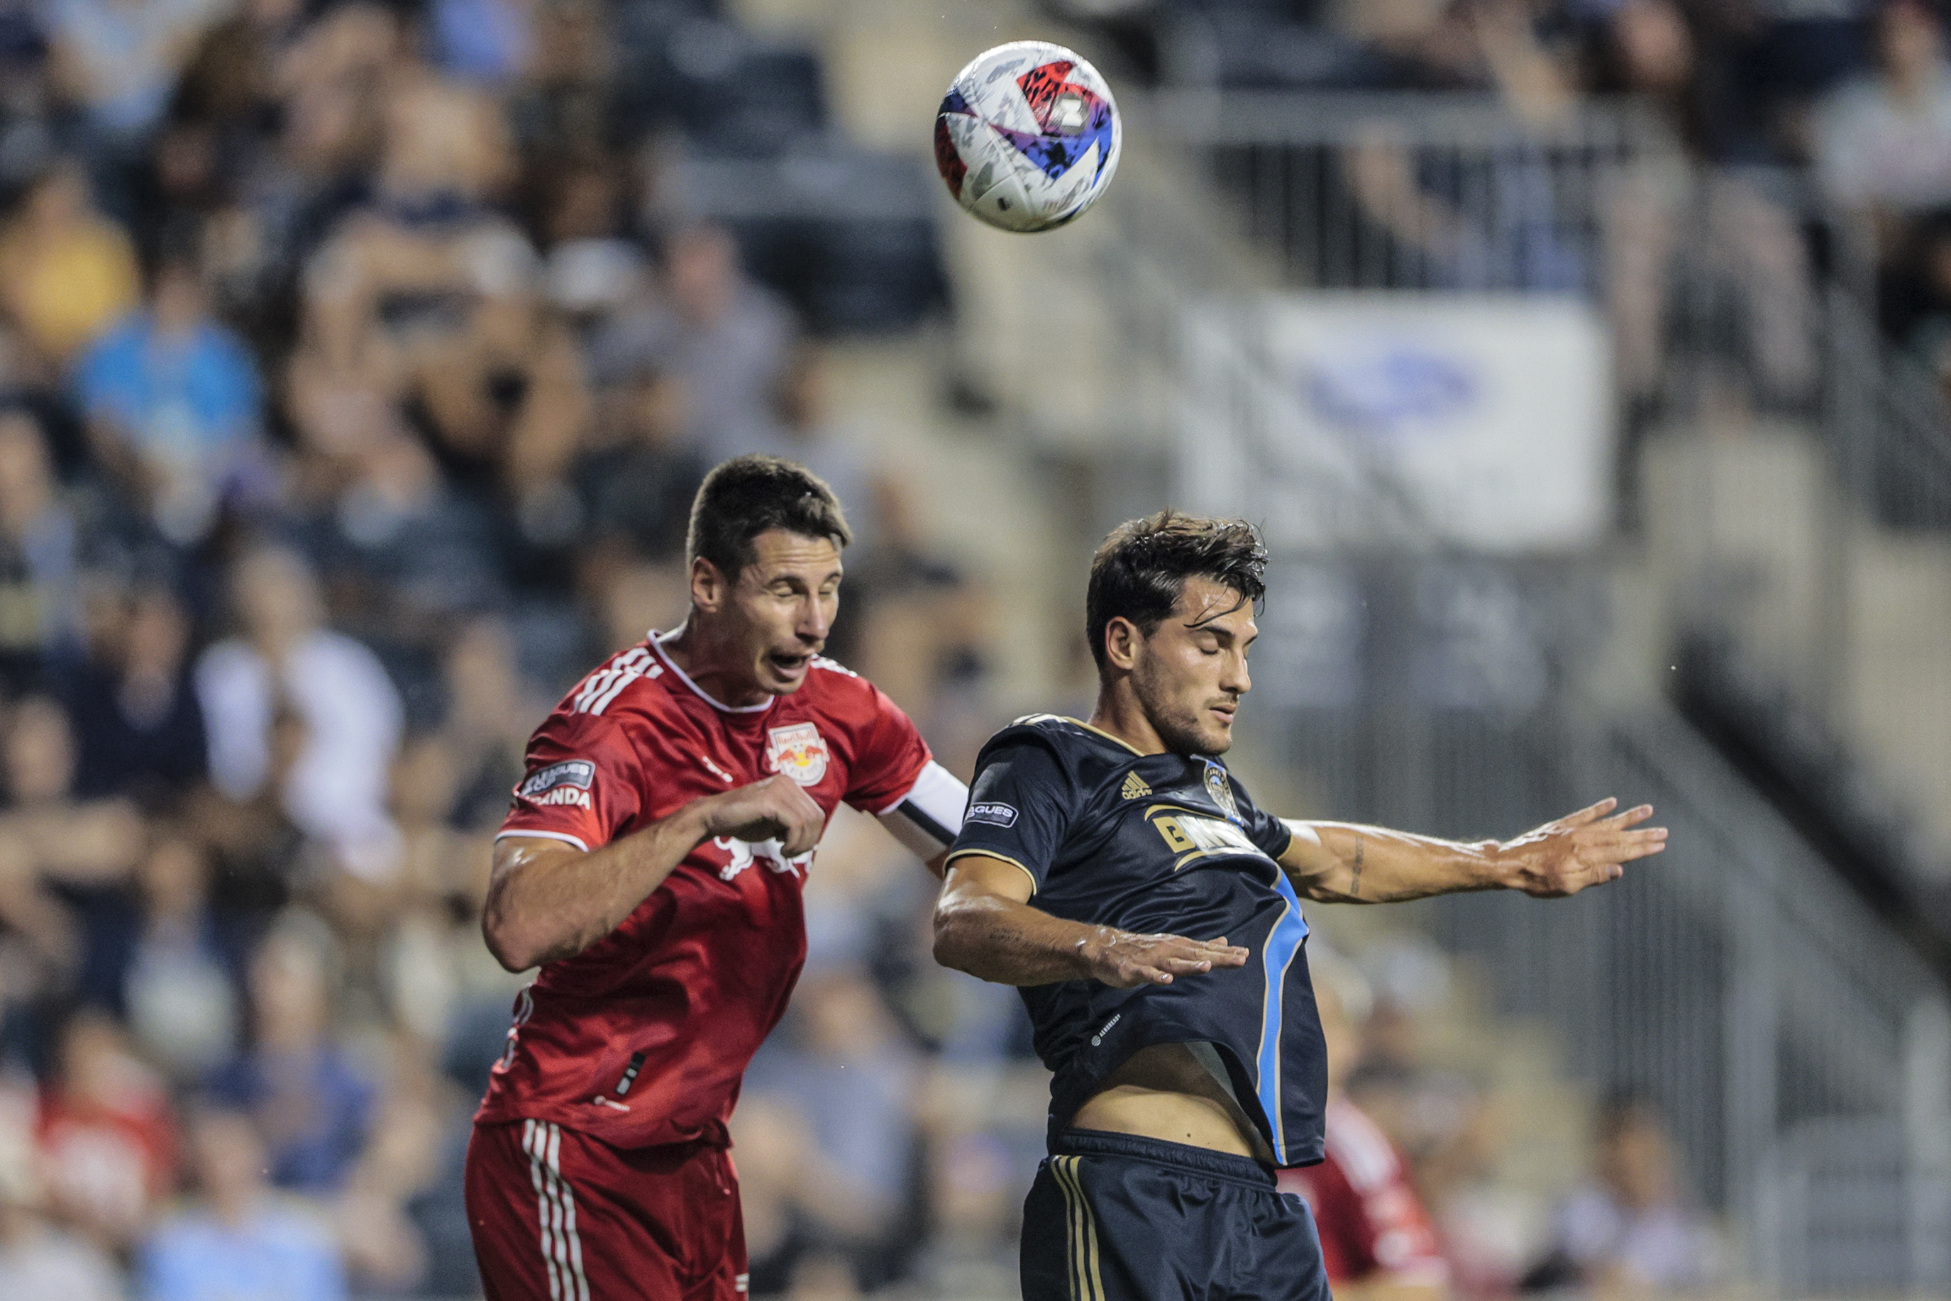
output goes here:
<path id="1" fill-rule="evenodd" d="M 732 708 L 652 634 L 583 679 L 529 741 L 501 835 L 593 850 L 775 772 L 829 817 L 843 800 L 888 815 L 917 784 L 960 788 L 907 714 L 837 663 L 814 659 L 800 690 Z M 515 999 L 476 1122 L 554 1122 L 611 1147 L 726 1143 L 745 1063 L 806 962 L 812 858 L 778 841 L 704 841 L 611 934 L 546 964 Z"/>

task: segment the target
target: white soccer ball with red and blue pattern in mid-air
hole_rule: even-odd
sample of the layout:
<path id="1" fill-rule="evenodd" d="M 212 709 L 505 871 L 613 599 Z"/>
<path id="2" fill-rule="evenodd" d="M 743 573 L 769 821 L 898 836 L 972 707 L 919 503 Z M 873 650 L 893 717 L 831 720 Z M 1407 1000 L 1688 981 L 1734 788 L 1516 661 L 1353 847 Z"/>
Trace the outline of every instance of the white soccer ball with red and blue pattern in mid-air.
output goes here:
<path id="1" fill-rule="evenodd" d="M 935 115 L 935 170 L 948 193 L 1003 230 L 1052 230 L 1096 203 L 1122 142 L 1110 86 L 1050 41 L 977 55 Z"/>

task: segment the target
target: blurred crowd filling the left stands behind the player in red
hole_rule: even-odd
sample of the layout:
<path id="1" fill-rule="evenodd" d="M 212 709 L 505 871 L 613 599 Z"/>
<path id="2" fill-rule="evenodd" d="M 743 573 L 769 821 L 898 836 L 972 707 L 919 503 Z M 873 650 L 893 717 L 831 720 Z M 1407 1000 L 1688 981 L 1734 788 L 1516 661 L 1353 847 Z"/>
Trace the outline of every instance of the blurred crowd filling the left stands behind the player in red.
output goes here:
<path id="1" fill-rule="evenodd" d="M 769 148 L 747 45 L 710 0 L 0 2 L 0 1295 L 474 1295 L 488 839 L 554 698 L 683 618 L 718 458 L 841 492 L 833 651 L 958 735 L 974 589 L 657 199 Z M 892 1010 L 927 880 L 874 854 L 749 1112 L 775 1291 L 950 1270 L 985 1229 L 915 1207 L 1016 1182 L 851 1092 L 1015 1024 Z"/>

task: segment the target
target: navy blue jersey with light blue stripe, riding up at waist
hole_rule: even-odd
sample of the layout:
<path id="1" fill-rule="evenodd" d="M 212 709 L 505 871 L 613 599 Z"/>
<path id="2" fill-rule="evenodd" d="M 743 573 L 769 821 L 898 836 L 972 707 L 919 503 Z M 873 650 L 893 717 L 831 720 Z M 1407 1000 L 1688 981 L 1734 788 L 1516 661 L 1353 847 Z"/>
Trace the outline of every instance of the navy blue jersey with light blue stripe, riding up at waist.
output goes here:
<path id="1" fill-rule="evenodd" d="M 1307 923 L 1276 862 L 1290 839 L 1217 759 L 1139 755 L 1052 714 L 989 739 L 950 858 L 989 854 L 1020 866 L 1036 884 L 1030 903 L 1054 917 L 1225 936 L 1251 952 L 1243 967 L 1171 985 L 1022 989 L 1036 1053 L 1055 1073 L 1052 1131 L 1137 1049 L 1212 1044 L 1276 1163 L 1321 1161 L 1327 1051 L 1307 979 Z"/>

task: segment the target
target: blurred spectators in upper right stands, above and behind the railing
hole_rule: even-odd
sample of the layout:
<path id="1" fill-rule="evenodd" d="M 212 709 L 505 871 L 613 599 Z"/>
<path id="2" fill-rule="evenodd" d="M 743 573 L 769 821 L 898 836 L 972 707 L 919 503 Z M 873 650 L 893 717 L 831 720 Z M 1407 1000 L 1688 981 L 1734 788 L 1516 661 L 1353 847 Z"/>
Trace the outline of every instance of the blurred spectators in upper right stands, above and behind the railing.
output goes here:
<path id="1" fill-rule="evenodd" d="M 1656 404 L 1684 349 L 1717 353 L 1756 404 L 1807 410 L 1820 273 L 1857 281 L 1887 337 L 1951 378 L 1939 0 L 1046 4 L 1163 84 L 1467 94 L 1541 125 L 1580 101 L 1637 101 L 1701 166 L 1633 168 L 1584 195 L 1524 148 L 1473 174 L 1379 133 L 1344 168 L 1420 283 L 1604 300 L 1629 404 Z M 1584 209 L 1602 252 L 1580 246 Z M 1861 218 L 1867 248 L 1838 215 Z"/>

